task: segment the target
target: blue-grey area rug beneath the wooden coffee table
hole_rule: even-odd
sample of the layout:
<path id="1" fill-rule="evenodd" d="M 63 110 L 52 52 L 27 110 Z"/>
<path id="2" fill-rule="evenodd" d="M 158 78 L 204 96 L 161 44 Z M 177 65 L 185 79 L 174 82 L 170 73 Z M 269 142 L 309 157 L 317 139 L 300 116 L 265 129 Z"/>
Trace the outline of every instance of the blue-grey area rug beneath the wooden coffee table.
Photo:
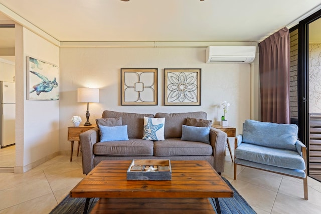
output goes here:
<path id="1" fill-rule="evenodd" d="M 224 181 L 231 187 L 234 191 L 234 197 L 231 198 L 219 198 L 221 212 L 224 214 L 253 214 L 256 213 L 254 209 L 246 202 L 246 200 L 236 191 L 236 189 L 231 185 L 231 183 L 222 177 Z M 93 198 L 90 200 L 88 207 L 88 213 L 97 203 L 99 198 Z M 215 199 L 209 198 L 214 210 Z M 69 197 L 67 195 L 51 212 L 50 214 L 63 214 L 63 213 L 83 213 L 85 207 L 86 198 L 81 197 Z"/>

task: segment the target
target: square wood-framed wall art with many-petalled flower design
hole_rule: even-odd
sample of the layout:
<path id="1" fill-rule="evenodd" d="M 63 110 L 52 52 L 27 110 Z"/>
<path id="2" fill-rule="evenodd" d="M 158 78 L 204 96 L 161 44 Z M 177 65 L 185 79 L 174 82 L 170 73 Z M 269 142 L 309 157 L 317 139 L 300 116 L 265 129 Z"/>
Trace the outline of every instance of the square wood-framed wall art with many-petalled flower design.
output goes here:
<path id="1" fill-rule="evenodd" d="M 164 69 L 164 105 L 200 106 L 201 71 L 195 69 Z"/>

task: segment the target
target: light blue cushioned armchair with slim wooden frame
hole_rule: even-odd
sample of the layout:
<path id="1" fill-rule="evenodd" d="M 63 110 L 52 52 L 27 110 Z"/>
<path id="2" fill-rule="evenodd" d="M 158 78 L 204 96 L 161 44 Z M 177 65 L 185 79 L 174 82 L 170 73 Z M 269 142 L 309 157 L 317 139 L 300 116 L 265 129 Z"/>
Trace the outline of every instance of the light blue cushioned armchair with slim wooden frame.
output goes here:
<path id="1" fill-rule="evenodd" d="M 307 194 L 306 147 L 297 140 L 295 124 L 246 120 L 235 138 L 234 179 L 237 165 L 303 179 Z"/>

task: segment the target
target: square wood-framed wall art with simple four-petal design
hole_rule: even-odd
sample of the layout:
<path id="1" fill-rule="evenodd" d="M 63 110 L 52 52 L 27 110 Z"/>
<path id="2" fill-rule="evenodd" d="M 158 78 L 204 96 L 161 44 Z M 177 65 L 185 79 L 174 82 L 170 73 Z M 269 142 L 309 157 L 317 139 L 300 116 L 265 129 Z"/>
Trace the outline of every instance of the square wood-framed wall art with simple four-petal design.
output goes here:
<path id="1" fill-rule="evenodd" d="M 120 69 L 121 105 L 158 105 L 158 69 Z"/>

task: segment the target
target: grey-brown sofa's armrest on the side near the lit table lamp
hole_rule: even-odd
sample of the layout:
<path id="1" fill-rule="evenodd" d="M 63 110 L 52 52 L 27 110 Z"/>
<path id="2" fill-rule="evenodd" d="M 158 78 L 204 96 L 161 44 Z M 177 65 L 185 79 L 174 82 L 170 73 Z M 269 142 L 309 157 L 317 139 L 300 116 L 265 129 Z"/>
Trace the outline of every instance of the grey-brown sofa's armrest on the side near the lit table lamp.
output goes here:
<path id="1" fill-rule="evenodd" d="M 88 174 L 94 168 L 94 152 L 93 146 L 99 142 L 99 129 L 92 128 L 79 135 L 82 153 L 82 171 Z"/>

